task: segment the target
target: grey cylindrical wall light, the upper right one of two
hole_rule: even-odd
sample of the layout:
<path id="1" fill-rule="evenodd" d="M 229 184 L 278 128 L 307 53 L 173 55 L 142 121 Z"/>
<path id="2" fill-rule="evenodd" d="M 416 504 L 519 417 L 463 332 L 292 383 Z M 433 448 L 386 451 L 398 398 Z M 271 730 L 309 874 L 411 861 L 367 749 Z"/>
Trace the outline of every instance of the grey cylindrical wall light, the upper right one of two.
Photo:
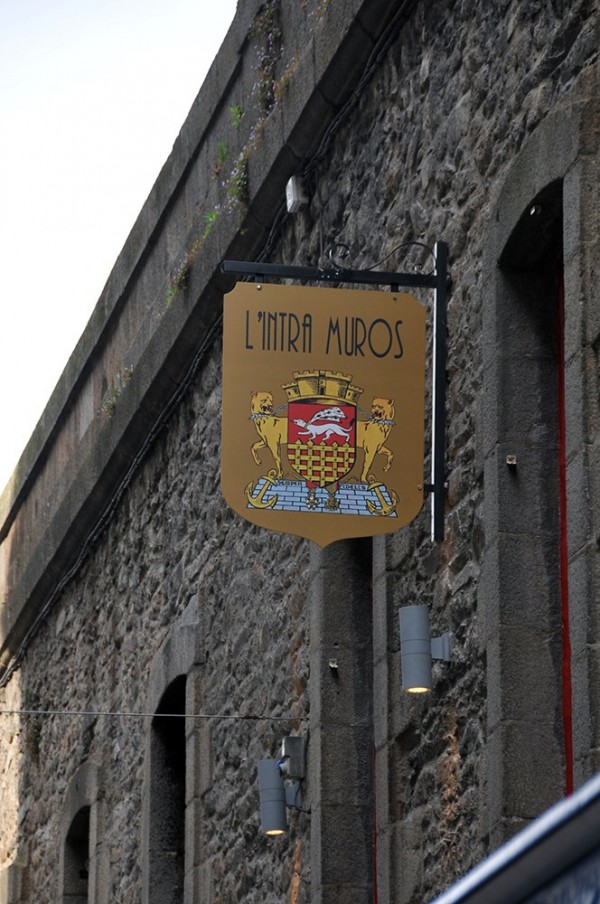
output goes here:
<path id="1" fill-rule="evenodd" d="M 427 606 L 403 606 L 400 621 L 402 690 L 423 694 L 431 690 L 431 660 L 450 661 L 450 634 L 432 637 Z"/>

